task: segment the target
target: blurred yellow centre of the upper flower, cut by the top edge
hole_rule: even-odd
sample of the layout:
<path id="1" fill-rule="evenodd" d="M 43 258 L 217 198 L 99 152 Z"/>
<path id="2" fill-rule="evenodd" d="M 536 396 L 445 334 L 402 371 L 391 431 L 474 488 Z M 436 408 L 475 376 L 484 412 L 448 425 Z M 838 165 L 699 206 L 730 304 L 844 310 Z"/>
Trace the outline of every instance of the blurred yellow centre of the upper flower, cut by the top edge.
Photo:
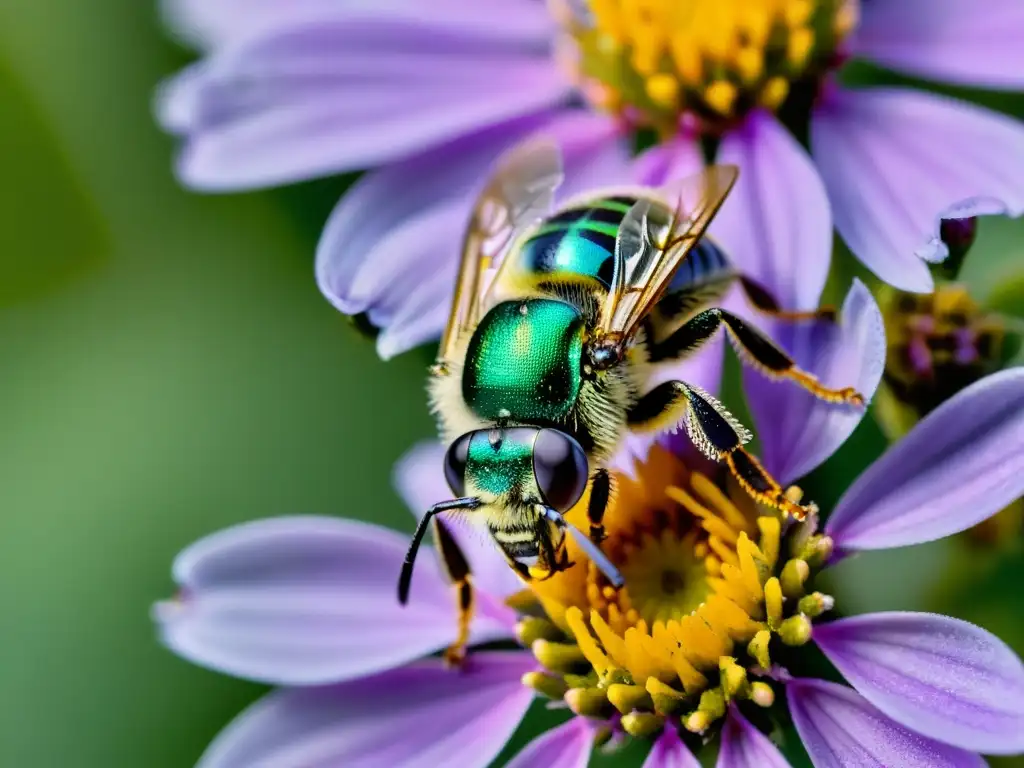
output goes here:
<path id="1" fill-rule="evenodd" d="M 775 110 L 833 66 L 858 0 L 551 0 L 597 106 L 672 134 Z"/>

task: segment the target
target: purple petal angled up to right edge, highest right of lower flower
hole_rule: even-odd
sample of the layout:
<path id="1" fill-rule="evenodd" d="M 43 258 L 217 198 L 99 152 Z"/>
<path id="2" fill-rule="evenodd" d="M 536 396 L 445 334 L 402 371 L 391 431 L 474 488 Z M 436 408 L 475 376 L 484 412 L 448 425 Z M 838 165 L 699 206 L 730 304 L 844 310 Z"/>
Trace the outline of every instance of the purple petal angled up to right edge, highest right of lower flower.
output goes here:
<path id="1" fill-rule="evenodd" d="M 918 423 L 840 499 L 825 530 L 843 549 L 922 544 L 1024 496 L 1024 368 L 987 376 Z"/>

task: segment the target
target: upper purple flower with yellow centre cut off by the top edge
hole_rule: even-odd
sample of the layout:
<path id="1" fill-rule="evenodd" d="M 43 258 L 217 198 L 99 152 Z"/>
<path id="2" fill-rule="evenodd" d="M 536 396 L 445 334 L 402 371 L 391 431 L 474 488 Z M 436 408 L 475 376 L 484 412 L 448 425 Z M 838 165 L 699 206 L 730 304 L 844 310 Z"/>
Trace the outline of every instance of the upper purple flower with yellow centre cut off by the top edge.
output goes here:
<path id="1" fill-rule="evenodd" d="M 833 77 L 860 56 L 1018 87 L 1017 0 L 778 0 L 760 14 L 696 0 L 652 5 L 647 22 L 612 0 L 583 5 L 166 0 L 171 27 L 206 51 L 158 100 L 182 139 L 178 175 L 222 191 L 379 166 L 332 214 L 316 278 L 340 310 L 384 329 L 385 357 L 439 334 L 471 197 L 504 148 L 539 131 L 565 148 L 567 193 L 665 178 L 698 162 L 695 135 L 723 137 L 719 159 L 743 172 L 733 225 L 713 234 L 753 276 L 796 284 L 798 306 L 817 300 L 833 216 L 879 276 L 928 291 L 944 216 L 1024 210 L 1017 122 Z M 810 155 L 775 117 L 802 102 Z M 641 126 L 665 138 L 631 160 Z"/>

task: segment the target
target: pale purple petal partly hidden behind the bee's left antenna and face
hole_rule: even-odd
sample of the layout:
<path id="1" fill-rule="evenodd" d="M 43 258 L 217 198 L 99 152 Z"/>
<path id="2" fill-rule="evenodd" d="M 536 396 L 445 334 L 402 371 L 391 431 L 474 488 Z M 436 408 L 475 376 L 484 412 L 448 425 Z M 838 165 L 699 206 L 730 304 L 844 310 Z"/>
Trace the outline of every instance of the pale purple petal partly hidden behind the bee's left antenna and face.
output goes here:
<path id="1" fill-rule="evenodd" d="M 444 480 L 445 450 L 436 440 L 421 442 L 395 465 L 395 488 L 417 520 L 432 505 L 452 498 L 452 489 Z M 483 593 L 480 600 L 500 601 L 523 589 L 485 529 L 474 525 L 471 519 L 453 521 L 449 527 L 469 560 L 473 584 Z"/>

